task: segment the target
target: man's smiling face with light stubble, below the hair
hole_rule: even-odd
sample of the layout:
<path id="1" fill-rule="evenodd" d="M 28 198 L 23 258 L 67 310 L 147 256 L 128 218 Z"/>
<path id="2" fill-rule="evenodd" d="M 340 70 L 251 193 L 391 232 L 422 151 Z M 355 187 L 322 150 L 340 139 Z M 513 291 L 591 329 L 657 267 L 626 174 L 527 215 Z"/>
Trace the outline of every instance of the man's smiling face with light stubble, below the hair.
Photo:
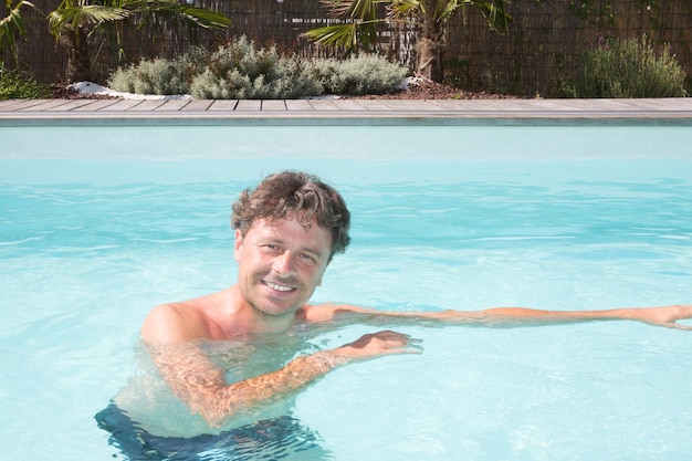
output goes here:
<path id="1" fill-rule="evenodd" d="M 316 222 L 256 220 L 243 237 L 235 231 L 238 284 L 248 304 L 269 316 L 294 315 L 322 283 L 332 234 Z"/>

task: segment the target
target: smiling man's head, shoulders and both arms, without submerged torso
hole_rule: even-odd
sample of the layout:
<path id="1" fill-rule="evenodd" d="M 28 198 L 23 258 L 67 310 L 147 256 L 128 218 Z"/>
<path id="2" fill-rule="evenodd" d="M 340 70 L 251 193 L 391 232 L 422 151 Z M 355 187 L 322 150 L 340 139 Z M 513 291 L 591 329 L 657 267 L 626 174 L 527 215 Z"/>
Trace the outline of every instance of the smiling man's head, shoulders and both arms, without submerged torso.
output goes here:
<path id="1" fill-rule="evenodd" d="M 301 172 L 268 177 L 233 205 L 238 283 L 219 293 L 155 307 L 141 337 L 176 396 L 211 426 L 243 408 L 292 392 L 332 369 L 388 354 L 416 353 L 416 342 L 392 331 L 367 334 L 332 350 L 300 356 L 274 371 L 226 383 L 198 339 L 254 340 L 297 324 L 439 322 L 487 326 L 633 319 L 692 329 L 675 323 L 692 306 L 559 312 L 500 307 L 476 312 L 378 312 L 353 305 L 306 304 L 336 253 L 349 243 L 350 214 L 339 193 Z M 181 352 L 185 350 L 185 354 Z"/>

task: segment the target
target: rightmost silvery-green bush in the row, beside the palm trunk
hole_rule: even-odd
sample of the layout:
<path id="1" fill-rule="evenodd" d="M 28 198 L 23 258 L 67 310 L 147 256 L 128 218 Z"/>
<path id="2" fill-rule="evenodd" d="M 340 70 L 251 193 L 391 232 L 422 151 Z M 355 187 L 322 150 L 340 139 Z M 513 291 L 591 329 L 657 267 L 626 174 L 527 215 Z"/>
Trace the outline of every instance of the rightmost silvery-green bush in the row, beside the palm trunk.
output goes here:
<path id="1" fill-rule="evenodd" d="M 400 85 L 408 70 L 375 54 L 347 60 L 316 60 L 316 78 L 328 94 L 384 94 Z"/>

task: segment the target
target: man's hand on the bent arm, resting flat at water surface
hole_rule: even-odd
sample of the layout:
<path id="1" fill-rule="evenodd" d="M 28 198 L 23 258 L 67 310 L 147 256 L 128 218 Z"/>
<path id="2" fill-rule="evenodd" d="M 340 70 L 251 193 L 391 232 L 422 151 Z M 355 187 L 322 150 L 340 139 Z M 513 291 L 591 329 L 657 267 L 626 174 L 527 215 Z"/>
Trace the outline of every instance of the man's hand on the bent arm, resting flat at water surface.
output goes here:
<path id="1" fill-rule="evenodd" d="M 349 360 L 365 360 L 389 354 L 420 354 L 421 350 L 419 339 L 412 339 L 402 333 L 384 331 L 363 335 L 332 353 Z"/>

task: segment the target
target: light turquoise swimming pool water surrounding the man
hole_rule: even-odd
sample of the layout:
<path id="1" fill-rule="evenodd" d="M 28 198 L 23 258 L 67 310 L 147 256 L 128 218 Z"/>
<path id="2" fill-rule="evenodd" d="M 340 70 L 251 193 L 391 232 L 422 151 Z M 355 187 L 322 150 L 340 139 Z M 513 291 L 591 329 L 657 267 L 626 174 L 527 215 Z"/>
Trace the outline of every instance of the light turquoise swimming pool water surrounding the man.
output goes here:
<path id="1" fill-rule="evenodd" d="M 354 214 L 317 302 L 692 301 L 689 126 L 377 125 L 0 127 L 1 458 L 124 459 L 94 415 L 135 374 L 144 316 L 234 281 L 229 205 L 284 168 L 322 176 Z M 284 459 L 689 457 L 689 332 L 398 329 L 424 353 L 350 365 L 286 402 L 302 430 Z M 248 450 L 231 459 L 263 453 Z"/>

